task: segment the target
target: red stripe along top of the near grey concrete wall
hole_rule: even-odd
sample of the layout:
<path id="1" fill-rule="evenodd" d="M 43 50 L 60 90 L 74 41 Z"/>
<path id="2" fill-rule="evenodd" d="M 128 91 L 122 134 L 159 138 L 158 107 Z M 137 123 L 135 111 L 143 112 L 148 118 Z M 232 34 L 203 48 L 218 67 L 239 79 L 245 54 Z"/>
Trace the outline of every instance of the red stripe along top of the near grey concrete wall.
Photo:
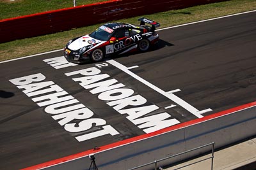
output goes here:
<path id="1" fill-rule="evenodd" d="M 54 166 L 56 164 L 61 164 L 62 162 L 67 162 L 69 160 L 79 159 L 81 157 L 86 157 L 86 156 L 88 156 L 92 153 L 102 152 L 104 150 L 109 150 L 111 148 L 115 148 L 115 147 L 118 147 L 118 146 L 127 145 L 129 143 L 133 143 L 133 142 L 139 141 L 141 139 L 146 139 L 146 138 L 150 138 L 150 137 L 153 137 L 153 136 L 157 136 L 157 135 L 163 134 L 165 132 L 175 131 L 177 129 L 187 127 L 189 125 L 198 124 L 200 122 L 205 122 L 205 121 L 211 120 L 213 118 L 218 118 L 218 117 L 221 117 L 221 116 L 229 115 L 229 114 L 235 113 L 237 111 L 241 111 L 241 110 L 251 108 L 253 106 L 256 106 L 256 101 L 253 102 L 253 103 L 248 103 L 248 104 L 244 104 L 244 105 L 241 105 L 241 106 L 237 106 L 236 108 L 231 108 L 229 110 L 220 111 L 218 113 L 214 113 L 212 115 L 208 115 L 208 116 L 203 117 L 203 118 L 197 118 L 195 120 L 184 122 L 182 124 L 173 125 L 172 127 L 167 127 L 165 129 L 161 129 L 159 131 L 152 132 L 150 134 L 143 134 L 143 135 L 140 135 L 140 136 L 136 136 L 134 138 L 129 138 L 129 139 L 125 139 L 123 141 L 118 141 L 116 143 L 111 143 L 109 145 L 100 146 L 99 150 L 87 150 L 87 151 L 84 151 L 84 152 L 76 153 L 74 155 L 69 155 L 67 157 L 63 157 L 63 158 L 60 158 L 60 159 L 51 160 L 49 162 L 38 164 L 36 166 L 26 167 L 26 168 L 21 169 L 21 170 L 40 169 L 40 168 L 44 168 L 44 167 Z"/>

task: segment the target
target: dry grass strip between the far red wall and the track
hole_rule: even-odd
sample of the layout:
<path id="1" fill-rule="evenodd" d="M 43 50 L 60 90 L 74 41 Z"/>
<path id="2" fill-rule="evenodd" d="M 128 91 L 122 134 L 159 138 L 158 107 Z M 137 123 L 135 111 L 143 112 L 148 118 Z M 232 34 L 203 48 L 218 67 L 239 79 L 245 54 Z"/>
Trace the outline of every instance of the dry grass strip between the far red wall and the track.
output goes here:
<path id="1" fill-rule="evenodd" d="M 182 10 L 172 10 L 152 15 L 144 15 L 144 17 L 156 20 L 163 28 L 251 10 L 256 10 L 256 0 L 232 0 L 194 6 Z M 139 17 L 118 20 L 118 22 L 138 24 L 137 19 Z M 2 43 L 0 44 L 0 60 L 14 59 L 35 53 L 61 49 L 65 46 L 68 40 L 83 34 L 88 34 L 99 27 L 99 25 L 100 24 L 73 29 L 70 31 L 58 32 L 56 34 Z"/>

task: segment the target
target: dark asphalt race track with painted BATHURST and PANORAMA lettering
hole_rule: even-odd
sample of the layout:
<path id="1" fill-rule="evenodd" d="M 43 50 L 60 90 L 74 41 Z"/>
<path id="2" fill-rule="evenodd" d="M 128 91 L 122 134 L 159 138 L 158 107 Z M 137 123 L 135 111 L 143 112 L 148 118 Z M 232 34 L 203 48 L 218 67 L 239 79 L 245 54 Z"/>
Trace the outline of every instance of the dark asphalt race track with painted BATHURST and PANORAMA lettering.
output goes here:
<path id="1" fill-rule="evenodd" d="M 158 33 L 158 48 L 99 63 L 54 64 L 62 51 L 2 62 L 0 169 L 41 164 L 256 101 L 256 12 Z M 103 87 L 109 82 L 116 87 Z M 146 123 L 159 117 L 159 124 Z"/>

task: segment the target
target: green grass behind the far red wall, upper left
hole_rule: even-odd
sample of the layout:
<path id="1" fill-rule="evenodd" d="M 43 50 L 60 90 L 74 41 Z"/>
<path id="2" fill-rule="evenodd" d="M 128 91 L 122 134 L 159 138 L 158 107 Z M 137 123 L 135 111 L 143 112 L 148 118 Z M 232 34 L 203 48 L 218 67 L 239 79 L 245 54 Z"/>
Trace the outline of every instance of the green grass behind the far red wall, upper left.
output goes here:
<path id="1" fill-rule="evenodd" d="M 76 0 L 76 5 L 103 1 L 107 0 Z M 73 0 L 0 0 L 0 20 L 73 6 Z"/>

